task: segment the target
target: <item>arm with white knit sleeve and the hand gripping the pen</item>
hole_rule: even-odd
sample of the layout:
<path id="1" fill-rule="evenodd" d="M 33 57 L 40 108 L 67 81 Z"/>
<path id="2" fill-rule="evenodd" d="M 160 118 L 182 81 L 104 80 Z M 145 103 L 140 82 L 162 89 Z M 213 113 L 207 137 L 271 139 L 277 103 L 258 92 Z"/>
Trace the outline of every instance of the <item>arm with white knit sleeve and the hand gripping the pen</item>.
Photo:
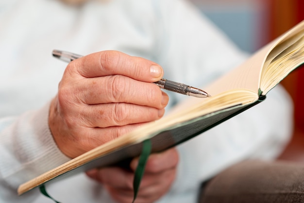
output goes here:
<path id="1" fill-rule="evenodd" d="M 70 63 L 50 105 L 16 118 L 1 118 L 1 200 L 26 202 L 28 196 L 31 202 L 35 191 L 19 198 L 17 186 L 139 122 L 160 118 L 168 96 L 150 82 L 162 74 L 157 64 L 118 51 L 102 51 Z M 148 116 L 136 120 L 142 114 Z"/>

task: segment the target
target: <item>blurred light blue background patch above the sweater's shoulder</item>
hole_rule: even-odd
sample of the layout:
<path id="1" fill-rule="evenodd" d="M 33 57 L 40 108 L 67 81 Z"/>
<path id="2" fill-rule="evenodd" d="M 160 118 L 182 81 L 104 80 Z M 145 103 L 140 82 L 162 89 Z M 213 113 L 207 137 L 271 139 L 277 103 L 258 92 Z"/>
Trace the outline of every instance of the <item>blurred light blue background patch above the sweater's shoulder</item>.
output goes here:
<path id="1" fill-rule="evenodd" d="M 190 0 L 236 45 L 250 53 L 268 41 L 269 5 L 266 0 Z"/>

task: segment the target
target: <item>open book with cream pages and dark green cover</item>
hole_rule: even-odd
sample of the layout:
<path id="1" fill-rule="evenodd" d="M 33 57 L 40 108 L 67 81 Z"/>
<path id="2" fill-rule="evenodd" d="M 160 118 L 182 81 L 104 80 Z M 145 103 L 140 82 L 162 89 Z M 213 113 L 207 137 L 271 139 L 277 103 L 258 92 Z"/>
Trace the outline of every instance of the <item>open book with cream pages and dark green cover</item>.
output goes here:
<path id="1" fill-rule="evenodd" d="M 151 140 L 152 152 L 161 152 L 185 142 L 263 101 L 274 86 L 303 63 L 304 21 L 204 87 L 212 97 L 191 98 L 193 105 L 181 105 L 164 118 L 147 123 L 22 184 L 18 194 L 50 180 L 138 156 L 146 139 Z"/>

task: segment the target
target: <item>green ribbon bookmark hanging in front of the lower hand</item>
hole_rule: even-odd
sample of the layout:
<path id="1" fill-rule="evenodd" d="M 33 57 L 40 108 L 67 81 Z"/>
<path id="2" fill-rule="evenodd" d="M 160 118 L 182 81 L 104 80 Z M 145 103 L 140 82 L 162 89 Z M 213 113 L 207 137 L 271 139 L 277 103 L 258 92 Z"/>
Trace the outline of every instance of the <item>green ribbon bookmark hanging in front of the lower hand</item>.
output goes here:
<path id="1" fill-rule="evenodd" d="M 134 181 L 133 181 L 134 198 L 133 198 L 132 203 L 134 203 L 134 201 L 136 199 L 138 189 L 139 189 L 139 186 L 140 186 L 140 182 L 141 182 L 141 178 L 144 175 L 145 168 L 146 168 L 146 163 L 147 163 L 147 160 L 148 160 L 149 155 L 151 153 L 151 150 L 152 150 L 151 140 L 146 139 L 143 142 L 142 152 L 139 156 L 138 165 L 137 165 L 137 168 L 136 168 L 135 174 L 134 174 Z"/>

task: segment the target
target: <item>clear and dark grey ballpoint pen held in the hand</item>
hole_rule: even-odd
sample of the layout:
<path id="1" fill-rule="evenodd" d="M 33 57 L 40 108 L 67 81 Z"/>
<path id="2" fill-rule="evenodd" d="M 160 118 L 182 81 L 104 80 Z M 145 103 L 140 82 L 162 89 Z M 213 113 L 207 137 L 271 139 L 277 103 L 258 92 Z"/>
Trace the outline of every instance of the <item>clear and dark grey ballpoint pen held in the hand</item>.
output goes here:
<path id="1" fill-rule="evenodd" d="M 68 51 L 60 51 L 60 50 L 53 50 L 52 54 L 54 57 L 62 61 L 66 61 L 68 63 L 75 59 L 83 57 L 82 55 L 76 53 L 71 53 Z M 169 91 L 188 95 L 188 96 L 199 97 L 199 98 L 211 97 L 207 92 L 203 91 L 202 89 L 185 85 L 182 83 L 173 82 L 163 78 L 154 83 L 162 89 L 167 89 Z"/>

